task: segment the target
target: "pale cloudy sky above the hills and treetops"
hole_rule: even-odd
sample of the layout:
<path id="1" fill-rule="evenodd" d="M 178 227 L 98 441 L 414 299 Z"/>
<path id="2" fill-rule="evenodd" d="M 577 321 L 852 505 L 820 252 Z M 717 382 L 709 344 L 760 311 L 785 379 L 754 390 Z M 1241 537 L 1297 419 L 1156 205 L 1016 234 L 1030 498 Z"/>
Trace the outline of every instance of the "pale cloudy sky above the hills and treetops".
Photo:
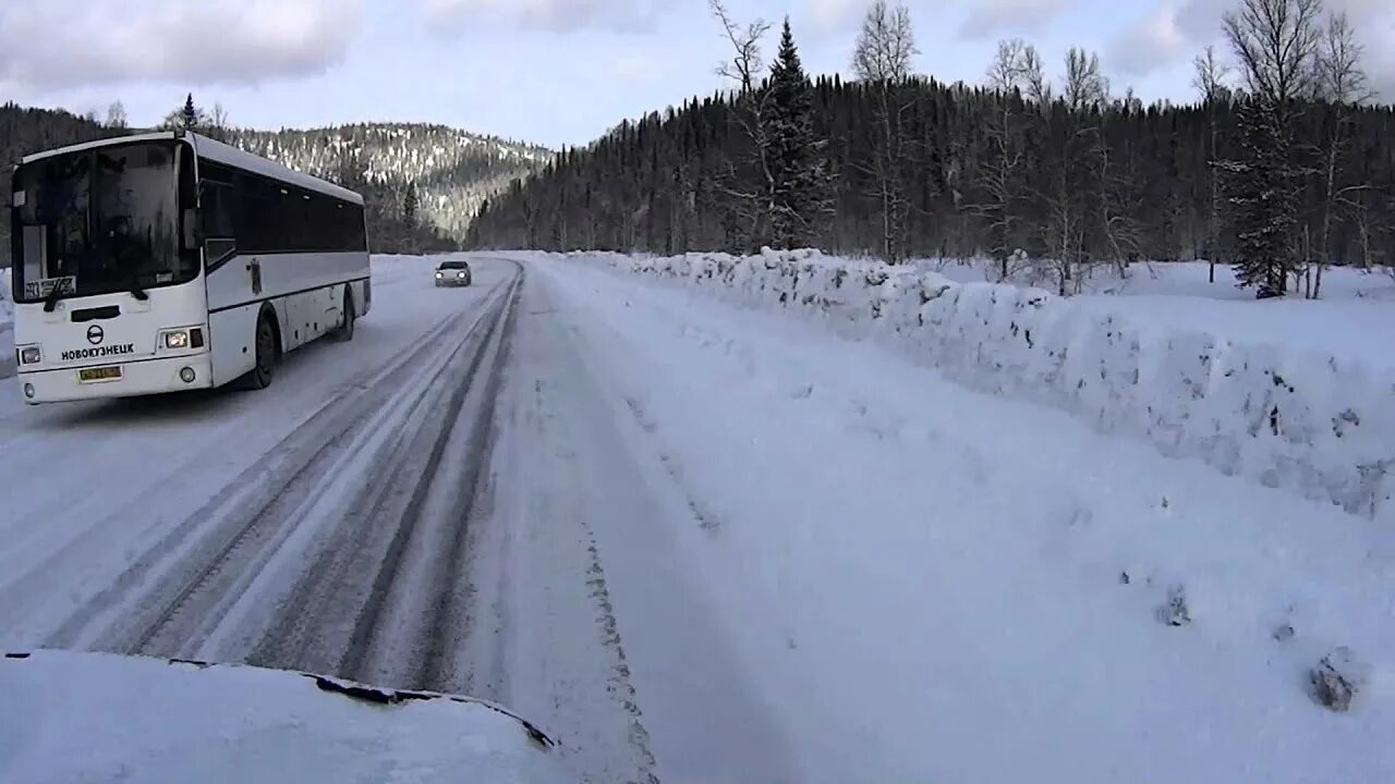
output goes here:
<path id="1" fill-rule="evenodd" d="M 1367 70 L 1395 98 L 1395 0 L 1346 8 Z M 728 0 L 739 20 L 788 14 L 805 66 L 847 73 L 869 0 Z M 1116 91 L 1190 100 L 1191 57 L 1229 0 L 905 0 L 921 73 L 979 81 L 1023 36 L 1053 71 L 1101 54 Z M 771 38 L 767 50 L 774 49 Z M 0 0 L 0 100 L 153 124 L 193 91 L 261 128 L 413 120 L 585 144 L 624 117 L 721 86 L 728 56 L 706 0 Z"/>

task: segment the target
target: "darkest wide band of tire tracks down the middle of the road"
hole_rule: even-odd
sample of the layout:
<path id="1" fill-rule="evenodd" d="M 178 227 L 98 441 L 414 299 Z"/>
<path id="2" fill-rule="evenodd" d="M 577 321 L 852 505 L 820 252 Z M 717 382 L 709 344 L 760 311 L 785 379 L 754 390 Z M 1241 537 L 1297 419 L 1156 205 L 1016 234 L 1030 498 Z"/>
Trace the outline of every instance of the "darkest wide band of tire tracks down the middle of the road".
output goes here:
<path id="1" fill-rule="evenodd" d="M 452 589 L 462 578 L 478 465 L 488 458 L 484 437 L 520 279 L 488 308 L 488 329 L 472 333 L 445 363 L 441 393 L 425 409 L 423 427 L 398 442 L 382 462 L 386 478 L 353 505 L 370 511 L 352 516 L 336 545 L 319 554 L 280 603 L 250 654 L 252 664 L 451 691 L 446 643 L 459 639 L 455 621 L 465 617 L 452 612 Z M 458 428 L 466 428 L 463 439 L 455 438 Z M 463 472 L 444 463 L 448 449 L 466 456 Z M 384 529 L 384 520 L 395 523 Z M 413 552 L 423 551 L 432 558 L 413 564 Z M 385 665 L 372 670 L 377 663 Z"/>

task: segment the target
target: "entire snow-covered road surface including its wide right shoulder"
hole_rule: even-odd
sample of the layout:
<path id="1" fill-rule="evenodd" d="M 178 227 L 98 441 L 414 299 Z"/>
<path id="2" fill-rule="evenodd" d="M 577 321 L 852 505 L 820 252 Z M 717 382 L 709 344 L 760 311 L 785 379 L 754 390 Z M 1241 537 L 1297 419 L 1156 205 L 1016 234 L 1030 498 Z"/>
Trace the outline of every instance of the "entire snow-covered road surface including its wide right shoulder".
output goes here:
<path id="1" fill-rule="evenodd" d="M 1392 532 L 809 325 L 474 262 L 375 259 L 356 340 L 261 393 L 0 382 L 0 649 L 470 693 L 596 783 L 1395 770 Z M 1375 672 L 1345 716 L 1302 682 L 1335 646 Z"/>

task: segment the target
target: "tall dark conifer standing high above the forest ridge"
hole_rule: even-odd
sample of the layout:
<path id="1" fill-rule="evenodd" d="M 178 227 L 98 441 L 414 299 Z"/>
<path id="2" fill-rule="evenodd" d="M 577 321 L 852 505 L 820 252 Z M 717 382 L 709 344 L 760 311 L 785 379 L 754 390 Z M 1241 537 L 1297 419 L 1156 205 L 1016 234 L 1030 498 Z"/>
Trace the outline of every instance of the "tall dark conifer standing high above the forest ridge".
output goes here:
<path id="1" fill-rule="evenodd" d="M 813 85 L 799 63 L 788 17 L 780 54 L 770 67 L 769 91 L 762 120 L 770 145 L 770 240 L 778 248 L 801 248 L 820 237 L 819 220 L 829 212 L 829 181 L 823 141 L 813 133 Z"/>

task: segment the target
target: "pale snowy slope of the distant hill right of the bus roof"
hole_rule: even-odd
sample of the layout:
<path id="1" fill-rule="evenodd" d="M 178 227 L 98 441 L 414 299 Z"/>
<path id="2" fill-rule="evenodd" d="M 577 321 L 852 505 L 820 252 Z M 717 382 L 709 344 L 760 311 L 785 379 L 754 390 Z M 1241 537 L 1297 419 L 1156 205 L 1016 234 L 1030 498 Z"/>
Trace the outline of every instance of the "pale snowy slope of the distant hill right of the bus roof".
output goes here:
<path id="1" fill-rule="evenodd" d="M 456 239 L 484 199 L 541 169 L 551 151 L 445 126 L 370 123 L 333 128 L 230 131 L 232 144 L 292 169 L 335 177 L 357 153 L 375 181 L 414 183 L 421 218 Z"/>

